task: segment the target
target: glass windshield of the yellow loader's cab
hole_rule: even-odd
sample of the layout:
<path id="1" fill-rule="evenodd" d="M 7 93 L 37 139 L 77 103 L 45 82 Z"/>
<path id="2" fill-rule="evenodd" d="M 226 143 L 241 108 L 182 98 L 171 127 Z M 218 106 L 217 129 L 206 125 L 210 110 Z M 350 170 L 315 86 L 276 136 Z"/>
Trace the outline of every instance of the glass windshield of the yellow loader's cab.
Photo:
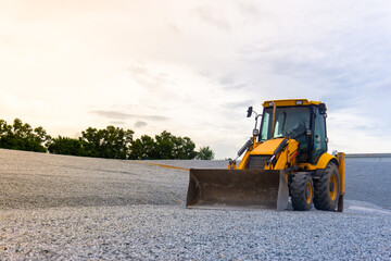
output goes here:
<path id="1" fill-rule="evenodd" d="M 273 108 L 265 108 L 261 123 L 260 140 L 289 136 L 298 138 L 310 128 L 310 107 L 276 108 L 275 132 L 272 137 Z"/>

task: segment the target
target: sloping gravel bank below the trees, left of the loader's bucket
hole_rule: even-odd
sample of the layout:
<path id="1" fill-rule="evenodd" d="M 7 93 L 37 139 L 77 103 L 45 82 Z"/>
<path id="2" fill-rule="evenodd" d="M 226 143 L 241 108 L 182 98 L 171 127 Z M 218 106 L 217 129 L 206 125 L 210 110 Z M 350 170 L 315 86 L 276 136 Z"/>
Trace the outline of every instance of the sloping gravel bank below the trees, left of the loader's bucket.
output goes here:
<path id="1" fill-rule="evenodd" d="M 188 174 L 130 161 L 0 150 L 0 208 L 181 203 Z"/>

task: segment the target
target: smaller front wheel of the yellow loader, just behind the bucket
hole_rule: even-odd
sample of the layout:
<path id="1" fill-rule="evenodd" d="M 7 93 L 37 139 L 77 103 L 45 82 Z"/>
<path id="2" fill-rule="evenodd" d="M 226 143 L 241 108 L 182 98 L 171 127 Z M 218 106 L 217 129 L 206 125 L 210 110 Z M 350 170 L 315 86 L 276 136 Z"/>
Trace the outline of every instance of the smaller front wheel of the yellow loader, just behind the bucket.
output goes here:
<path id="1" fill-rule="evenodd" d="M 294 210 L 311 210 L 313 207 L 314 185 L 310 173 L 294 174 L 290 184 L 290 195 Z"/>

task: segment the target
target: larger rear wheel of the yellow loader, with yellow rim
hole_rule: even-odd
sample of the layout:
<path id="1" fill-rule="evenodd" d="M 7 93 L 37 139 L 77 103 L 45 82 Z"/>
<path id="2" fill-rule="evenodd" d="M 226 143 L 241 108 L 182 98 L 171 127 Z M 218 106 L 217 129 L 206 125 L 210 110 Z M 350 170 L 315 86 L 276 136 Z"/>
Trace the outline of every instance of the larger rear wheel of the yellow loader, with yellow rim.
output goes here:
<path id="1" fill-rule="evenodd" d="M 319 179 L 314 181 L 314 204 L 317 210 L 333 211 L 338 207 L 340 182 L 338 166 L 329 162 Z"/>

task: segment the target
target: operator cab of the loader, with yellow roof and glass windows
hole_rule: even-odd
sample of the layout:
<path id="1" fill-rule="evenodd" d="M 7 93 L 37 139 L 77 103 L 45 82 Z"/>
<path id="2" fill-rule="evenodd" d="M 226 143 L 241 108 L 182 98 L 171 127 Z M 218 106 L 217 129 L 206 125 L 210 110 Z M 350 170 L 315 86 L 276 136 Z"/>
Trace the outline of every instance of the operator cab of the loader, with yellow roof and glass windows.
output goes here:
<path id="1" fill-rule="evenodd" d="M 275 101 L 273 133 L 274 107 L 272 102 L 265 103 L 258 141 L 282 137 L 293 138 L 299 141 L 299 163 L 316 164 L 320 156 L 327 152 L 326 105 L 307 100 L 292 105 Z"/>

